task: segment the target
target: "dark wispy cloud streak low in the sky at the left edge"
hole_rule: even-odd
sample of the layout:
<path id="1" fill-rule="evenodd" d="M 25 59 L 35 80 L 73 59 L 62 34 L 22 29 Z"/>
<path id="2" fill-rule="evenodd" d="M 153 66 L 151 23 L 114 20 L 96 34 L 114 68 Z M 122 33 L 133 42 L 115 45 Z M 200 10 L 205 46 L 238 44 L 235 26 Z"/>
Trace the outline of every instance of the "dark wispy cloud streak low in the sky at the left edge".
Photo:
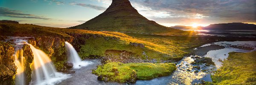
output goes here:
<path id="1" fill-rule="evenodd" d="M 3 17 L 15 17 L 15 18 L 30 18 L 30 19 L 41 19 L 41 20 L 51 20 L 43 16 L 35 16 L 33 14 L 24 14 L 22 11 L 11 10 L 9 8 L 0 7 L 0 16 Z"/>

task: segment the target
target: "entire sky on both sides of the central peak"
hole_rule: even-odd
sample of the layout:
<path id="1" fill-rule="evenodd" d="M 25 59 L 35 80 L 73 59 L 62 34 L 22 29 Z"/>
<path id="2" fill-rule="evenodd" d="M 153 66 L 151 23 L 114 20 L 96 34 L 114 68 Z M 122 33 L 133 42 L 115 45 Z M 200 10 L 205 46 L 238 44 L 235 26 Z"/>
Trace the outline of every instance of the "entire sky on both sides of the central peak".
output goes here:
<path id="1" fill-rule="evenodd" d="M 39 26 L 77 26 L 104 12 L 112 0 L 0 0 L 0 20 Z M 256 24 L 256 0 L 130 0 L 149 20 L 163 26 Z"/>

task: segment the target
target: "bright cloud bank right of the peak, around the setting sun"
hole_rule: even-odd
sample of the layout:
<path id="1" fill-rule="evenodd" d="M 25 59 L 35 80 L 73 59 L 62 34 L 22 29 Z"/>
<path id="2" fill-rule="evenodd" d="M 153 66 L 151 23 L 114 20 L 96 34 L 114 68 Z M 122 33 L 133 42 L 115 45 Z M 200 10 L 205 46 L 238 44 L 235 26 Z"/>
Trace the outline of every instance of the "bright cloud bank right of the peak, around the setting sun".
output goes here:
<path id="1" fill-rule="evenodd" d="M 256 0 L 130 0 L 140 14 L 158 23 L 256 22 Z"/>

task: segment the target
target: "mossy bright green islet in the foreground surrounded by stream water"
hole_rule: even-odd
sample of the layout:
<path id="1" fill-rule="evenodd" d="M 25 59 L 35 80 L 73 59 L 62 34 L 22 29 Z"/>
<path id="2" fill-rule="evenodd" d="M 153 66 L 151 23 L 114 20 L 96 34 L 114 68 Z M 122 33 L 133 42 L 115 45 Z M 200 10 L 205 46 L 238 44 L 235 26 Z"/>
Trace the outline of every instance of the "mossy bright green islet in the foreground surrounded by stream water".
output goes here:
<path id="1" fill-rule="evenodd" d="M 176 70 L 175 64 L 172 63 L 127 63 L 110 62 L 105 65 L 99 66 L 93 71 L 93 74 L 103 77 L 108 77 L 109 81 L 114 82 L 128 82 L 133 78 L 136 73 L 136 79 L 153 79 L 155 77 L 170 75 Z M 115 71 L 119 74 L 115 75 Z"/>

